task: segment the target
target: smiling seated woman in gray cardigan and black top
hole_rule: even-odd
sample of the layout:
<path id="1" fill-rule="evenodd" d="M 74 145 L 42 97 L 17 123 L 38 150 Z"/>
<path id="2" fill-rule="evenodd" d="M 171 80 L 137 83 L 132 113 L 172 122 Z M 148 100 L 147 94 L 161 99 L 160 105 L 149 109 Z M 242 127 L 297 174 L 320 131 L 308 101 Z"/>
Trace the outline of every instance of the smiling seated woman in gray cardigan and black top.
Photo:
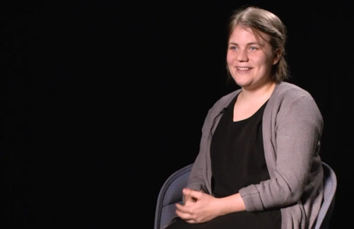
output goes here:
<path id="1" fill-rule="evenodd" d="M 313 228 L 323 198 L 323 121 L 307 91 L 283 82 L 286 30 L 246 8 L 230 23 L 227 68 L 241 89 L 209 110 L 200 153 L 167 228 Z"/>

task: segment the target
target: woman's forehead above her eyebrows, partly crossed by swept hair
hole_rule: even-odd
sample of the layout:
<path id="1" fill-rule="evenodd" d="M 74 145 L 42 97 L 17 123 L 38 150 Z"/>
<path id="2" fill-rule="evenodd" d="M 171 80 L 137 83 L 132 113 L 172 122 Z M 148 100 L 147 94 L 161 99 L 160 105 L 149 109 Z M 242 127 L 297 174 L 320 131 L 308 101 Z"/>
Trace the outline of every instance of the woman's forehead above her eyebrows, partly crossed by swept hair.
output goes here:
<path id="1" fill-rule="evenodd" d="M 270 42 L 270 36 L 259 30 L 252 30 L 249 27 L 236 25 L 232 31 L 229 42 L 257 42 L 265 44 Z"/>

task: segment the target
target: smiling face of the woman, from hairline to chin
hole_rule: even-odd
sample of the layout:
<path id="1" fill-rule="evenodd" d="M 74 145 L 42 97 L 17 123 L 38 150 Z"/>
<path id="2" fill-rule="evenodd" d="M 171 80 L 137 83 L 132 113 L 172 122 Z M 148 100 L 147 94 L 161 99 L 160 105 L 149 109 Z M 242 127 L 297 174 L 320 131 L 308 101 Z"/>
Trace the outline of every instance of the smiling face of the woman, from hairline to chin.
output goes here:
<path id="1" fill-rule="evenodd" d="M 269 44 L 270 36 L 253 33 L 251 28 L 237 25 L 229 38 L 227 66 L 241 88 L 254 90 L 273 81 L 271 70 L 279 61 L 280 51 Z"/>

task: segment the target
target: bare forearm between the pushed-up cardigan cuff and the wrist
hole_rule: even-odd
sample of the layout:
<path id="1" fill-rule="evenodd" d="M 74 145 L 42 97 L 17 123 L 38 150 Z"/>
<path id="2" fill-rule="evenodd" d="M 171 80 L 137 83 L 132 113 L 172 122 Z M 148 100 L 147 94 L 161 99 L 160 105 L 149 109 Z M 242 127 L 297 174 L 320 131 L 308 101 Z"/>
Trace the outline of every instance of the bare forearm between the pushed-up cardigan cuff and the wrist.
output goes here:
<path id="1" fill-rule="evenodd" d="M 239 193 L 217 199 L 219 215 L 223 216 L 238 211 L 246 211 L 244 200 Z"/>

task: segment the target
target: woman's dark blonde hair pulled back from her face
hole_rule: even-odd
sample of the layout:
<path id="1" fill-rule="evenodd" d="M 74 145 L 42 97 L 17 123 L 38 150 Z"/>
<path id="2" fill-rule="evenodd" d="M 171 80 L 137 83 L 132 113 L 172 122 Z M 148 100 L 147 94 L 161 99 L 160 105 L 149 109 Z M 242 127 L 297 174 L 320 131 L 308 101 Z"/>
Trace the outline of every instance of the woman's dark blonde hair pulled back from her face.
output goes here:
<path id="1" fill-rule="evenodd" d="M 236 25 L 242 25 L 247 28 L 251 28 L 253 33 L 261 36 L 261 33 L 265 33 L 270 36 L 270 45 L 273 50 L 280 49 L 280 59 L 277 64 L 273 66 L 272 76 L 273 79 L 279 83 L 287 79 L 288 70 L 287 62 L 285 61 L 285 41 L 287 30 L 278 16 L 257 7 L 248 7 L 245 9 L 239 9 L 234 12 L 229 22 L 229 37 L 232 35 Z M 229 39 L 228 37 L 228 39 Z M 263 38 L 263 37 L 262 37 Z M 263 38 L 264 39 L 264 38 Z M 229 72 L 229 68 L 227 67 Z"/>

